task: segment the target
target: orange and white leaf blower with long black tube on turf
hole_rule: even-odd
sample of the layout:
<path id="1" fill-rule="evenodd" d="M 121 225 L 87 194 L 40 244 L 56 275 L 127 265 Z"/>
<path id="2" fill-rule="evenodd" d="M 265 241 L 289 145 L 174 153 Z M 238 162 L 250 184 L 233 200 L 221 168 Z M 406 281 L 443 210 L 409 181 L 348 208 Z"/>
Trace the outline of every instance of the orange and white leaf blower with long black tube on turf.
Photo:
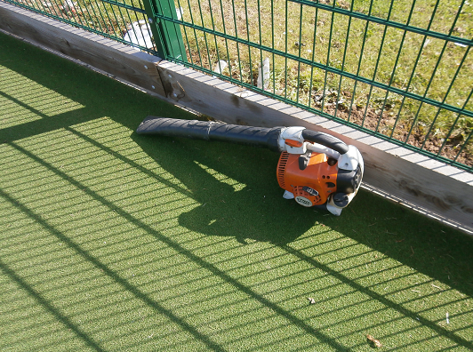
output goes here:
<path id="1" fill-rule="evenodd" d="M 277 182 L 283 197 L 340 215 L 357 194 L 364 172 L 359 150 L 330 134 L 305 127 L 252 127 L 148 116 L 136 130 L 197 140 L 219 140 L 280 152 Z"/>

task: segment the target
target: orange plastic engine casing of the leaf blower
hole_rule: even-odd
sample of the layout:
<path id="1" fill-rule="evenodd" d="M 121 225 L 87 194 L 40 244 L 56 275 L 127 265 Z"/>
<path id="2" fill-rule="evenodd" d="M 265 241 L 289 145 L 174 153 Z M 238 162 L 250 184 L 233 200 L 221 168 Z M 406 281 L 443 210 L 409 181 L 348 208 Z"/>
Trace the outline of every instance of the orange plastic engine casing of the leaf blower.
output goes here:
<path id="1" fill-rule="evenodd" d="M 279 186 L 293 193 L 295 198 L 301 196 L 309 200 L 311 205 L 308 203 L 306 206 L 325 204 L 328 196 L 337 189 L 337 164 L 328 164 L 327 156 L 323 153 L 312 153 L 304 167 L 300 165 L 300 157 L 297 154 L 281 153 L 277 163 Z M 311 191 L 310 194 L 304 187 L 316 190 L 318 195 L 313 195 Z"/>

